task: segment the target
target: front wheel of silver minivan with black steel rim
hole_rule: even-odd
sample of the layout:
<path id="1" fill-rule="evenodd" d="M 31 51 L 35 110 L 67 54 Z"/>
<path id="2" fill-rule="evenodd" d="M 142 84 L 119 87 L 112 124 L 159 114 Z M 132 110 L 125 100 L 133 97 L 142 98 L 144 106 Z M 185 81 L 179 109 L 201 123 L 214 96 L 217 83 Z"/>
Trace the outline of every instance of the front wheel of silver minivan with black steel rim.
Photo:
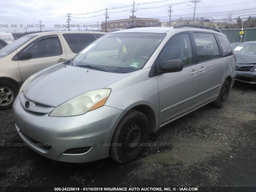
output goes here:
<path id="1" fill-rule="evenodd" d="M 119 163 L 128 163 L 140 156 L 149 136 L 146 115 L 137 110 L 128 111 L 116 126 L 109 156 Z"/>

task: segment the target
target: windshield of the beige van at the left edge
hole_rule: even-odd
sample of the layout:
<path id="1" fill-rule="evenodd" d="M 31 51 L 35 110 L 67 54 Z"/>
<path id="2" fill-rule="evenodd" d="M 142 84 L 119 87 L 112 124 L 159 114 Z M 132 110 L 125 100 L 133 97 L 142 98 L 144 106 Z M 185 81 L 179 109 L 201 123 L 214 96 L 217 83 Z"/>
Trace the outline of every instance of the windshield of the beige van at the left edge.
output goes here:
<path id="1" fill-rule="evenodd" d="M 32 39 L 34 36 L 23 36 L 11 44 L 6 45 L 4 48 L 0 50 L 0 57 L 7 56 L 26 43 L 28 40 Z"/>

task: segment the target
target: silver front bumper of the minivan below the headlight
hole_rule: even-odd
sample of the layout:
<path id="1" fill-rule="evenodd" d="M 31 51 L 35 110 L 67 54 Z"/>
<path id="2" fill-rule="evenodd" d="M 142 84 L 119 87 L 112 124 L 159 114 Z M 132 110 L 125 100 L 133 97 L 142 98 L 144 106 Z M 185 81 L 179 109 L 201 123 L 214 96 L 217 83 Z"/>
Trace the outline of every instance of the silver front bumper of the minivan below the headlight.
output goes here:
<path id="1" fill-rule="evenodd" d="M 102 106 L 80 116 L 50 117 L 26 110 L 18 98 L 13 104 L 21 139 L 39 154 L 62 162 L 91 162 L 108 157 L 114 129 L 125 113 Z"/>

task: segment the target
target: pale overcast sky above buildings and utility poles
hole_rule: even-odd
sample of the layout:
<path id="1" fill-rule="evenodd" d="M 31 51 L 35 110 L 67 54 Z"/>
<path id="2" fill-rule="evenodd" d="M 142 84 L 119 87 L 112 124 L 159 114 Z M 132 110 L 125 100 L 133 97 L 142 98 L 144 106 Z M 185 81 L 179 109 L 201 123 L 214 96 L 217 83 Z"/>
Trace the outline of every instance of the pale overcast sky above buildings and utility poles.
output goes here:
<path id="1" fill-rule="evenodd" d="M 0 0 L 0 32 L 38 31 L 40 28 L 36 24 L 40 21 L 42 31 L 65 30 L 62 27 L 68 13 L 70 24 L 80 26 L 72 30 L 85 30 L 86 26 L 105 21 L 106 8 L 108 20 L 129 18 L 132 4 L 133 0 Z M 134 5 L 134 16 L 168 22 L 170 6 L 172 20 L 193 17 L 194 3 L 188 0 L 138 0 Z M 198 18 L 222 22 L 222 19 L 238 16 L 256 17 L 256 0 L 201 0 L 196 4 L 195 17 Z"/>

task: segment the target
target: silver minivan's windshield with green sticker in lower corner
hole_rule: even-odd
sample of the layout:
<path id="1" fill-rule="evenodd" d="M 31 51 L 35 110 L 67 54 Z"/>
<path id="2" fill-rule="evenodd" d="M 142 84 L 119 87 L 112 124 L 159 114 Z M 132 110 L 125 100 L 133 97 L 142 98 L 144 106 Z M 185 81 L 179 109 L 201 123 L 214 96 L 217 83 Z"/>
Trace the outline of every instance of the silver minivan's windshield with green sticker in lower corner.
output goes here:
<path id="1" fill-rule="evenodd" d="M 74 66 L 129 73 L 140 70 L 162 42 L 165 34 L 114 33 L 102 36 L 70 63 Z"/>

